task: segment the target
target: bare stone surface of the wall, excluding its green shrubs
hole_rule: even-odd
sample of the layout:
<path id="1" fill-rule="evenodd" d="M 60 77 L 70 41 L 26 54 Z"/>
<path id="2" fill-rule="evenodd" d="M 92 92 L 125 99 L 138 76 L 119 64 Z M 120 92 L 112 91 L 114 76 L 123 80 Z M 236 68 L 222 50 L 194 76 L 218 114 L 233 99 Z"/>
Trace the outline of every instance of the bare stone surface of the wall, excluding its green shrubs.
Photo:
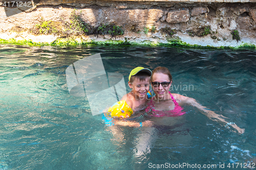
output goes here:
<path id="1" fill-rule="evenodd" d="M 139 6 L 139 5 L 138 5 Z M 135 6 L 136 7 L 136 6 Z M 91 28 L 102 24 L 113 23 L 123 29 L 123 34 L 98 35 L 94 31 L 79 32 L 78 40 L 72 43 L 90 43 L 104 41 L 122 41 L 144 44 L 168 44 L 173 36 L 185 43 L 210 46 L 235 46 L 241 43 L 256 44 L 256 4 L 254 3 L 179 3 L 173 7 L 155 8 L 116 8 L 88 6 L 75 10 L 66 5 L 39 6 L 36 10 L 20 12 L 10 17 L 5 16 L 5 9 L 0 7 L 0 38 L 8 40 L 25 40 L 34 43 L 54 44 L 60 37 L 72 37 L 72 32 L 66 32 L 66 22 L 70 22 L 72 12 L 76 12 L 83 22 Z M 118 17 L 117 17 L 118 16 Z M 51 21 L 59 31 L 59 36 L 33 36 L 31 29 L 36 28 L 41 18 Z M 60 19 L 61 18 L 61 19 Z M 57 24 L 58 23 L 58 24 Z M 88 28 L 90 30 L 90 28 Z M 154 31 L 152 31 L 154 30 Z M 234 40 L 232 32 L 237 30 L 241 37 Z M 34 32 L 33 32 L 34 33 Z M 56 33 L 56 32 L 55 32 Z M 90 34 L 89 34 L 90 33 Z M 92 35 L 93 33 L 94 35 Z M 41 33 L 42 34 L 42 33 Z M 106 34 L 106 33 L 104 33 Z M 77 35 L 77 34 L 75 34 Z M 89 35 L 88 37 L 85 35 Z M 43 42 L 47 41 L 47 42 Z M 244 41 L 244 42 L 242 42 Z M 59 43 L 62 42 L 59 41 Z M 116 42 L 116 41 L 115 41 Z M 66 42 L 63 42 L 64 44 Z"/>

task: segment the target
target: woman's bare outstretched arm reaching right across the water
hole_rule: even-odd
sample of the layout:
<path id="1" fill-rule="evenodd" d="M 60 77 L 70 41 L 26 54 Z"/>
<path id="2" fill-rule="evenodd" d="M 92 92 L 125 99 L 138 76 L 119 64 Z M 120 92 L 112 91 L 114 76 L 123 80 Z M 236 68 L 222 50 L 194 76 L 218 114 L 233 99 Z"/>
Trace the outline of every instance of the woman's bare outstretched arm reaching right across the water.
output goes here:
<path id="1" fill-rule="evenodd" d="M 195 99 L 188 98 L 180 94 L 173 94 L 173 96 L 179 105 L 187 104 L 187 105 L 197 107 L 204 115 L 206 115 L 210 119 L 215 120 L 216 122 L 219 122 L 219 123 L 224 123 L 226 124 L 225 126 L 230 125 L 234 129 L 236 129 L 238 133 L 241 133 L 241 134 L 244 133 L 244 129 L 239 128 L 235 123 L 227 122 L 225 120 L 227 119 L 227 117 L 216 114 L 214 111 L 209 110 L 207 107 L 200 105 Z"/>

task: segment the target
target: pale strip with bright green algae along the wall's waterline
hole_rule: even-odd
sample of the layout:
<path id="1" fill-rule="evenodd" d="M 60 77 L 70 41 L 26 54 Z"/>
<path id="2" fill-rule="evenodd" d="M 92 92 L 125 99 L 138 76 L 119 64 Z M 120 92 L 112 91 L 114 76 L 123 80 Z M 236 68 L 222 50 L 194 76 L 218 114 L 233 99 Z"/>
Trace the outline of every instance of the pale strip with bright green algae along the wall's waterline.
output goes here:
<path id="1" fill-rule="evenodd" d="M 74 37 L 74 38 L 60 38 L 52 35 L 44 36 L 33 36 L 25 35 L 23 37 L 17 37 L 15 34 L 6 36 L 0 33 L 0 44 L 17 44 L 17 45 L 53 45 L 53 46 L 66 46 L 66 45 L 150 45 L 150 46 L 183 46 L 192 48 L 225 48 L 225 49 L 236 49 L 236 48 L 256 48 L 255 39 L 244 39 L 242 38 L 240 42 L 237 41 L 226 41 L 226 42 L 215 42 L 211 38 L 204 37 L 203 39 L 198 37 L 190 37 L 186 34 L 179 33 L 173 38 L 166 39 L 155 39 L 152 37 L 142 38 L 142 37 L 116 37 L 111 39 L 106 39 L 105 36 L 88 36 L 88 37 Z M 206 45 L 207 44 L 207 45 Z"/>

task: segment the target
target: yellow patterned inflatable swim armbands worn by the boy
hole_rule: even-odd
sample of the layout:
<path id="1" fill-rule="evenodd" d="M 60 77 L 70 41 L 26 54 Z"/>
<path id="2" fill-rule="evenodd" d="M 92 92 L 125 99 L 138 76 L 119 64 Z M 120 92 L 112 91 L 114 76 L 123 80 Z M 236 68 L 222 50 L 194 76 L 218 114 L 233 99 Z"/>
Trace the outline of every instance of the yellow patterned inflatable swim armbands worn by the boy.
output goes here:
<path id="1" fill-rule="evenodd" d="M 151 98 L 151 91 L 147 92 L 147 98 Z M 123 100 L 116 102 L 108 110 L 112 117 L 130 117 L 133 114 L 133 109 Z"/>

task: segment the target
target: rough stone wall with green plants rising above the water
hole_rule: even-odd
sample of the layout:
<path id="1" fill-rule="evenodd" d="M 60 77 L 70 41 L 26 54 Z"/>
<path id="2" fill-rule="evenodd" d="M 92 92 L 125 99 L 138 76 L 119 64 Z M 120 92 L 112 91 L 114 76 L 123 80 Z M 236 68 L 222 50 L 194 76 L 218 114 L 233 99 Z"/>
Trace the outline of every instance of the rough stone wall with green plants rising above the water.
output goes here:
<path id="1" fill-rule="evenodd" d="M 36 8 L 20 12 L 2 4 L 0 38 L 36 43 L 256 45 L 253 3 L 92 2 L 45 2 L 51 5 L 35 4 Z M 8 10 L 17 14 L 7 17 Z M 42 24 L 53 31 L 44 31 Z M 122 30 L 118 34 L 117 27 Z"/>

